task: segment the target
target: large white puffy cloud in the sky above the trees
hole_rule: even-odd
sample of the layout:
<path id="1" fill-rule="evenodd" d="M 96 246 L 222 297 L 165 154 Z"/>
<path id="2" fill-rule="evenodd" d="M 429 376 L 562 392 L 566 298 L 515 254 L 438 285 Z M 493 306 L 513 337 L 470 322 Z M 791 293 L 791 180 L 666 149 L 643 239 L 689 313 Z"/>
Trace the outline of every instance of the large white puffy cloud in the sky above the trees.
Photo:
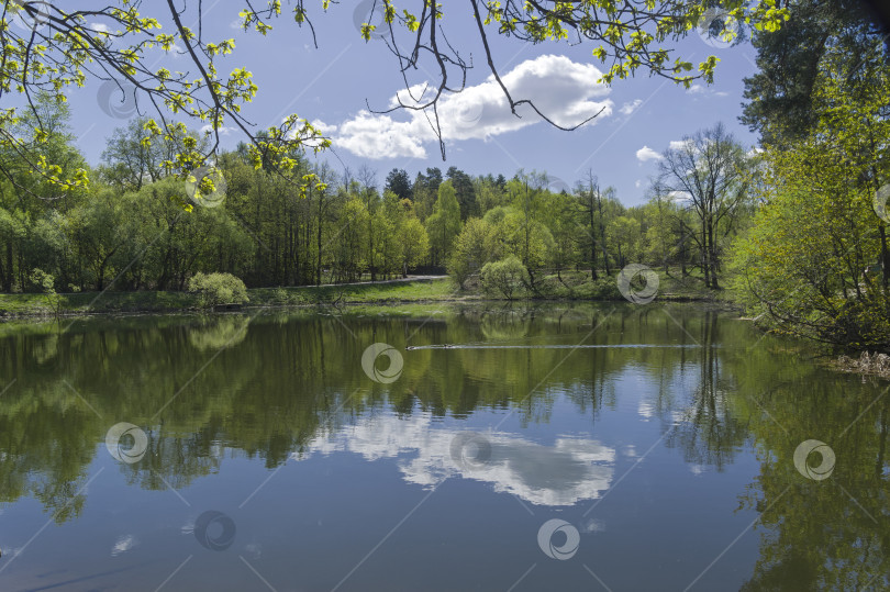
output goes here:
<path id="1" fill-rule="evenodd" d="M 533 101 L 547 118 L 568 127 L 600 112 L 600 118 L 612 114 L 613 102 L 605 99 L 609 88 L 596 83 L 600 76 L 600 70 L 592 65 L 576 64 L 565 56 L 544 55 L 523 62 L 501 78 L 514 100 Z M 422 103 L 430 100 L 433 90 L 426 83 L 412 86 L 410 92 L 402 89 L 390 99 L 389 107 L 399 104 L 399 99 L 404 104 Z M 516 112 L 520 118 L 511 113 L 503 91 L 491 76 L 459 93 L 443 94 L 438 101 L 440 124 L 446 142 L 488 139 L 542 122 L 527 104 L 520 105 Z M 400 121 L 393 119 L 392 113 L 361 110 L 340 125 L 330 126 L 336 130 L 332 137 L 334 145 L 365 158 L 426 157 L 425 145 L 436 142 L 426 116 L 421 111 L 400 114 L 409 119 Z"/>

